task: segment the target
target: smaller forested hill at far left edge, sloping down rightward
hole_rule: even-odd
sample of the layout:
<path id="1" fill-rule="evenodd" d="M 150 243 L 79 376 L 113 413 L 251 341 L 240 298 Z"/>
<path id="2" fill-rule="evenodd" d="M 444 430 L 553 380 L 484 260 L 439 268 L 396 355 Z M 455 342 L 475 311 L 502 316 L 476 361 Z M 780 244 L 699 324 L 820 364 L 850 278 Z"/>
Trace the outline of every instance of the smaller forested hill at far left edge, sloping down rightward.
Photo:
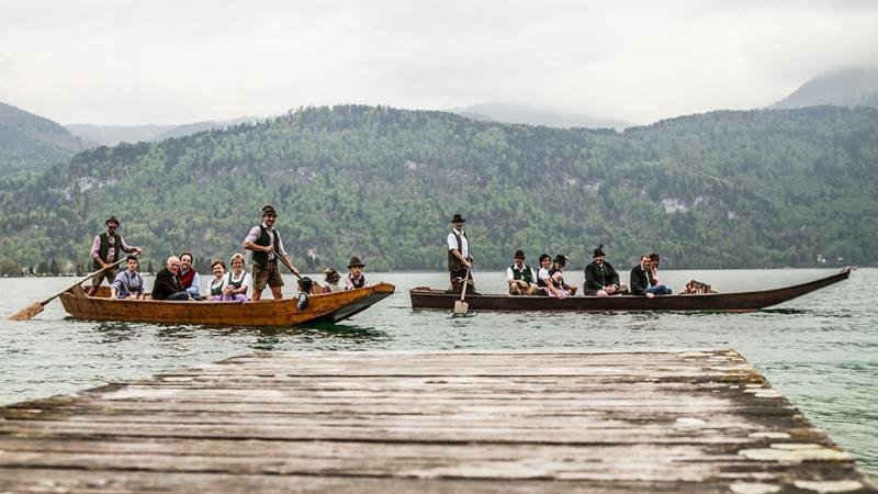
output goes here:
<path id="1" fill-rule="evenodd" d="M 86 147 L 57 123 L 0 103 L 0 173 L 42 170 Z"/>

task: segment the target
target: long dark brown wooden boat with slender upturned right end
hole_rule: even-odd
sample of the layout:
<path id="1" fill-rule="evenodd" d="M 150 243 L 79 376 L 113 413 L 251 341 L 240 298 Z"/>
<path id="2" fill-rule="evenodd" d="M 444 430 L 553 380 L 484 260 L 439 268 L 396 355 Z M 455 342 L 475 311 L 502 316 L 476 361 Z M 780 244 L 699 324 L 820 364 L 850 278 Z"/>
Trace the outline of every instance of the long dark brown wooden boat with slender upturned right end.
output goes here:
<path id="1" fill-rule="evenodd" d="M 851 274 L 851 268 L 819 280 L 774 290 L 738 293 L 709 293 L 687 295 L 664 295 L 648 299 L 639 295 L 615 296 L 571 296 L 554 299 L 549 296 L 511 296 L 505 294 L 466 295 L 470 311 L 709 311 L 747 312 L 770 307 L 779 303 L 820 290 Z M 451 311 L 459 293 L 446 293 L 426 287 L 412 289 L 412 308 L 439 308 Z"/>

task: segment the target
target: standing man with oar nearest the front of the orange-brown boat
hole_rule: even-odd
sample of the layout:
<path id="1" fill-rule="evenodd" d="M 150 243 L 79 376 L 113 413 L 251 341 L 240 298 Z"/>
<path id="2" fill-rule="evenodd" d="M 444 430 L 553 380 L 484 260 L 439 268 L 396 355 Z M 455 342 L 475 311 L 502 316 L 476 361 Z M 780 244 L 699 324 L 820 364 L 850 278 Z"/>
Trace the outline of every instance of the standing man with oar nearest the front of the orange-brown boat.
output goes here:
<path id="1" fill-rule="evenodd" d="M 262 224 L 254 226 L 247 238 L 244 239 L 244 248 L 254 252 L 254 294 L 252 300 L 258 301 L 262 297 L 262 290 L 266 285 L 271 288 L 271 294 L 275 300 L 283 299 L 283 280 L 278 270 L 278 258 L 280 257 L 290 271 L 299 277 L 299 270 L 290 262 L 290 256 L 283 249 L 281 236 L 274 229 L 274 220 L 278 212 L 274 206 L 266 204 L 262 206 Z"/>

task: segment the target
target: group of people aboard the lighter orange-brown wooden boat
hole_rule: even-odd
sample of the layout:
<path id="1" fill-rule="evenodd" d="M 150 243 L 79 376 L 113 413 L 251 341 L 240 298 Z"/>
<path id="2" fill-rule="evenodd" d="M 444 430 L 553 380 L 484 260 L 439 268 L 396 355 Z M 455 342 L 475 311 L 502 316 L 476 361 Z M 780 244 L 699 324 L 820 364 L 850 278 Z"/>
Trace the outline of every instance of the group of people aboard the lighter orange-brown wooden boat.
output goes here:
<path id="1" fill-rule="evenodd" d="M 258 301 L 266 288 L 271 289 L 275 300 L 283 297 L 283 279 L 278 269 L 278 261 L 284 263 L 290 271 L 299 278 L 300 296 L 314 293 L 331 293 L 342 290 L 353 290 L 369 287 L 369 278 L 363 273 L 363 263 L 359 257 L 353 256 L 348 263 L 348 274 L 344 284 L 339 284 L 341 276 L 334 268 L 324 269 L 325 284 L 319 285 L 307 277 L 301 277 L 299 270 L 290 261 L 283 248 L 280 233 L 274 229 L 278 212 L 271 205 L 261 209 L 262 222 L 252 227 L 244 239 L 243 247 L 252 252 L 252 271 L 245 271 L 244 256 L 234 254 L 229 259 L 230 270 L 223 259 L 211 263 L 213 279 L 207 283 L 209 292 L 203 294 L 201 277 L 192 267 L 192 254 L 182 252 L 168 258 L 165 268 L 156 273 L 153 290 L 149 296 L 154 300 L 168 301 Z M 87 293 L 94 295 L 104 279 L 110 283 L 111 296 L 114 299 L 144 299 L 146 290 L 144 277 L 138 271 L 136 255 L 142 255 L 140 247 L 130 246 L 117 233 L 119 220 L 115 216 L 104 222 L 105 232 L 98 234 L 91 248 L 91 258 L 95 270 L 101 270 L 92 277 L 92 284 Z M 126 268 L 122 271 L 116 267 L 121 255 L 127 254 Z M 121 262 L 120 262 L 121 263 Z M 300 305 L 305 300 L 300 297 Z"/>

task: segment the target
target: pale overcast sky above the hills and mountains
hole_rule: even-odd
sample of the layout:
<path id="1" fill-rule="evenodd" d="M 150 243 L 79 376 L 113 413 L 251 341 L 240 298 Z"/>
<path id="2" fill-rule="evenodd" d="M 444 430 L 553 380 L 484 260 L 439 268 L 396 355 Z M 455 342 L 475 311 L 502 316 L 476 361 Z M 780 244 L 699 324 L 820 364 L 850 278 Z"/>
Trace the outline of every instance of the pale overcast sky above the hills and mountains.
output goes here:
<path id="1" fill-rule="evenodd" d="M 0 2 L 0 101 L 63 124 L 511 102 L 651 123 L 878 65 L 878 1 Z"/>

